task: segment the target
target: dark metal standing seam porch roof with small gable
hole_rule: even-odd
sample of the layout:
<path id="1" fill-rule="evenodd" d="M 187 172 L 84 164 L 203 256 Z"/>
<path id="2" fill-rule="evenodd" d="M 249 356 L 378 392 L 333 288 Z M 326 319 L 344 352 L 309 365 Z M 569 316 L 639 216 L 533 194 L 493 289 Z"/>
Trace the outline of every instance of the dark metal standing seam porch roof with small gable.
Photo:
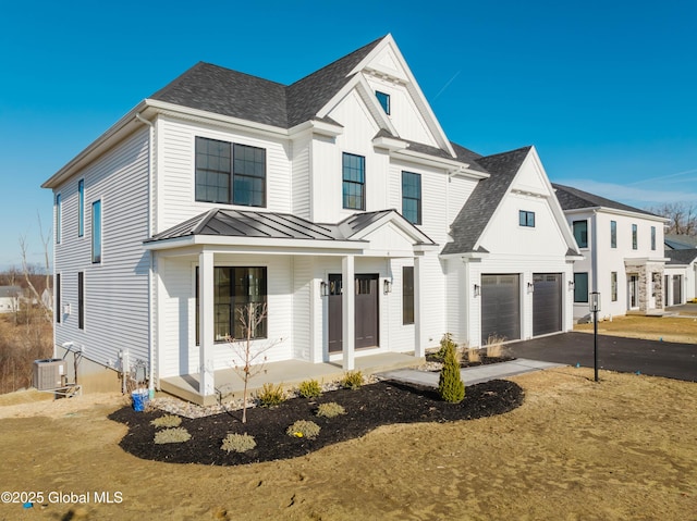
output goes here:
<path id="1" fill-rule="evenodd" d="M 394 215 L 391 215 L 394 214 Z M 258 237 L 259 239 L 354 241 L 362 231 L 389 216 L 396 216 L 423 237 L 418 245 L 436 246 L 427 235 L 406 221 L 396 210 L 380 210 L 351 215 L 338 224 L 317 224 L 290 213 L 215 208 L 145 240 L 145 244 L 192 236 Z"/>

